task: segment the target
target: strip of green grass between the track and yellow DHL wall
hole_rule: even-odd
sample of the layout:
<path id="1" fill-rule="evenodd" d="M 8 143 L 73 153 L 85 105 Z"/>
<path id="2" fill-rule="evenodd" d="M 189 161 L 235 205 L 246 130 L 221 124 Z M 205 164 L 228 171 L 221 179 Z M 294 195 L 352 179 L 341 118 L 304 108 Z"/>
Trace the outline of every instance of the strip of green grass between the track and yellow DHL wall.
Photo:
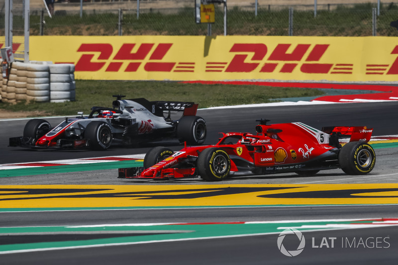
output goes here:
<path id="1" fill-rule="evenodd" d="M 10 111 L 44 111 L 45 115 L 89 114 L 92 106 L 111 107 L 112 95 L 148 100 L 194 101 L 199 108 L 275 102 L 273 98 L 322 95 L 313 88 L 275 88 L 255 85 L 202 85 L 177 82 L 89 81 L 76 80 L 76 101 L 64 103 L 0 103 Z M 278 100 L 277 100 L 278 101 Z"/>

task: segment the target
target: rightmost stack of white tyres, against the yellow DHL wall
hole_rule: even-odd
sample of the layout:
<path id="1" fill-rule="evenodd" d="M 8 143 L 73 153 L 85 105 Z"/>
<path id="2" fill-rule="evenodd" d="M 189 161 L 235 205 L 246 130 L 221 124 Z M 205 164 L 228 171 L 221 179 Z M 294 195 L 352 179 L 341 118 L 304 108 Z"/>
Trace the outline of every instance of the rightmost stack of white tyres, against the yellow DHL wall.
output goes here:
<path id="1" fill-rule="evenodd" d="M 50 101 L 74 101 L 75 90 L 75 65 L 54 64 L 50 65 Z"/>

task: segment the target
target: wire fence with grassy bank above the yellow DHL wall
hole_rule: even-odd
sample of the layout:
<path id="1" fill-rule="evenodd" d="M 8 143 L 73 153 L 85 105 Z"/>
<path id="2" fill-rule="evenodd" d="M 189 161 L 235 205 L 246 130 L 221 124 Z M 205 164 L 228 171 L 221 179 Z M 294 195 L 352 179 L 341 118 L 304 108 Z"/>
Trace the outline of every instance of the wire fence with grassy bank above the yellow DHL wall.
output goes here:
<path id="1" fill-rule="evenodd" d="M 31 9 L 30 34 L 112 36 L 208 33 L 207 24 L 195 22 L 193 1 L 187 1 L 183 7 L 167 5 L 141 9 L 137 9 L 135 3 L 127 9 L 104 9 L 100 2 L 96 4 L 97 9 L 86 5 L 82 10 L 67 9 L 68 4 L 58 6 L 52 18 L 45 9 Z M 397 36 L 397 28 L 390 25 L 398 19 L 397 11 L 398 4 L 395 2 L 378 6 L 375 1 L 355 5 L 318 4 L 316 12 L 313 6 L 304 5 L 229 6 L 227 35 Z M 223 16 L 222 5 L 216 4 L 212 35 L 224 35 Z M 14 21 L 18 20 L 17 17 L 18 12 L 14 12 Z M 15 26 L 17 23 L 14 23 Z M 14 32 L 16 35 L 19 31 Z"/>

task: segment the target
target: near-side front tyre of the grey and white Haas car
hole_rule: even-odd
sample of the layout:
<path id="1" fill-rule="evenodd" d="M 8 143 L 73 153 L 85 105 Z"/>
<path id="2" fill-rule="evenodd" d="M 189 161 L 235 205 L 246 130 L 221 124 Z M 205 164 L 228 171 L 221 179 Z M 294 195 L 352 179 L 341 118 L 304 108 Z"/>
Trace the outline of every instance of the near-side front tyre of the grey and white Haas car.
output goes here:
<path id="1" fill-rule="evenodd" d="M 106 150 L 112 144 L 112 130 L 106 122 L 93 121 L 87 125 L 84 132 L 86 139 L 90 140 L 92 150 Z"/>

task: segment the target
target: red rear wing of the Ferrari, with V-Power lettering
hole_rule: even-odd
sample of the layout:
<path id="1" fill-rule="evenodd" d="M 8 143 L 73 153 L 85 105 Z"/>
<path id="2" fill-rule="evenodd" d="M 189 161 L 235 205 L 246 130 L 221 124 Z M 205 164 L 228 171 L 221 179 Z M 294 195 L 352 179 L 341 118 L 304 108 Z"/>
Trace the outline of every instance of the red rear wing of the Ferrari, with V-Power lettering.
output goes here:
<path id="1" fill-rule="evenodd" d="M 350 142 L 369 142 L 373 128 L 367 128 L 366 126 L 323 127 L 322 132 L 338 136 L 351 136 Z"/>

